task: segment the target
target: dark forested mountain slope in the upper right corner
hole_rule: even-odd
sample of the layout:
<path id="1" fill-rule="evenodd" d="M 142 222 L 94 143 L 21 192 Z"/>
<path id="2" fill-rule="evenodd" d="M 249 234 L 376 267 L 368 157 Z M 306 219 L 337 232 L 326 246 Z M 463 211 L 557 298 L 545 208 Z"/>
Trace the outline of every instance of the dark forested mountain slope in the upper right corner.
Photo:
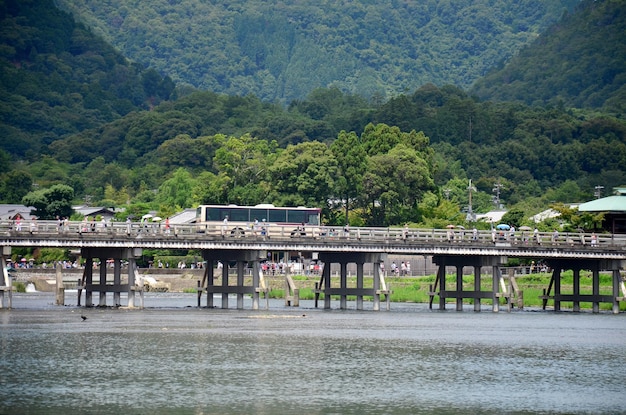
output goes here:
<path id="1" fill-rule="evenodd" d="M 585 0 L 472 93 L 521 101 L 626 112 L 626 2 Z"/>

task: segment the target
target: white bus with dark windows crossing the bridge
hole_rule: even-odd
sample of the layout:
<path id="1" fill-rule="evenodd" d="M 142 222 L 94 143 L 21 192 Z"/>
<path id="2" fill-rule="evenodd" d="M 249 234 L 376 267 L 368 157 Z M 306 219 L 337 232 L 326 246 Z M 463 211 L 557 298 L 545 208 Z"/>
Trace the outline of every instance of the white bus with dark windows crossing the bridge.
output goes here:
<path id="1" fill-rule="evenodd" d="M 244 236 L 246 233 L 269 236 L 272 231 L 305 236 L 307 227 L 320 227 L 321 212 L 320 208 L 276 207 L 271 204 L 200 205 L 196 210 L 196 223 L 205 225 L 207 231 L 221 229 L 222 233 L 230 236 Z M 273 226 L 275 229 L 271 229 Z"/>

